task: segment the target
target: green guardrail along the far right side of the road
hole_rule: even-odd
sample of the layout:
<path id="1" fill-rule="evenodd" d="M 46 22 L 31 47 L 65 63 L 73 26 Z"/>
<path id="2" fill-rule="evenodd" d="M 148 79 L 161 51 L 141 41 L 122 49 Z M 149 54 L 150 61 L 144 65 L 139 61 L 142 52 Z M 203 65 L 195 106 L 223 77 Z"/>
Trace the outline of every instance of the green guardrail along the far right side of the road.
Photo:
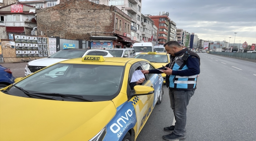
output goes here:
<path id="1" fill-rule="evenodd" d="M 237 57 L 237 58 L 246 58 L 246 59 L 255 59 L 256 60 L 256 53 L 247 53 L 247 52 L 213 52 L 210 51 L 210 54 L 215 55 L 223 55 L 223 56 L 230 56 L 230 57 Z"/>

